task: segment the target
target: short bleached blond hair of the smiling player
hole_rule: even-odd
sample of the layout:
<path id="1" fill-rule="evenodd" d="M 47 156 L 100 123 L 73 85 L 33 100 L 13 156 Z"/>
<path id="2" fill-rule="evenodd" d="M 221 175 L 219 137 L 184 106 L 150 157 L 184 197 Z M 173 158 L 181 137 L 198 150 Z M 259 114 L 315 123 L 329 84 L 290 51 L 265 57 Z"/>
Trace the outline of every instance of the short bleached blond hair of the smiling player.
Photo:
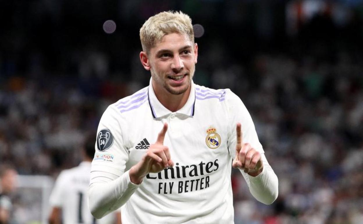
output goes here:
<path id="1" fill-rule="evenodd" d="M 160 12 L 151 16 L 140 29 L 140 41 L 144 52 L 148 53 L 156 42 L 169 33 L 187 34 L 189 40 L 194 42 L 192 20 L 183 12 Z"/>

